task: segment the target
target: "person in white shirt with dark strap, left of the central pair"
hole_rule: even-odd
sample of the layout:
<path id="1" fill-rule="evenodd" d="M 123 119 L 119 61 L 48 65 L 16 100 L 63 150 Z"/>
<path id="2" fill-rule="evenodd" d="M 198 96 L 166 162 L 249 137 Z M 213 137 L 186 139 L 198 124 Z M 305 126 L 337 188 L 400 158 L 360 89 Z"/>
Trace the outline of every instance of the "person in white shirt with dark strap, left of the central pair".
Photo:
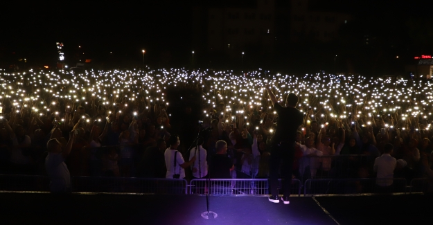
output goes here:
<path id="1" fill-rule="evenodd" d="M 170 147 L 166 149 L 166 152 L 164 152 L 164 158 L 166 160 L 166 178 L 177 178 L 177 179 L 184 179 L 185 177 L 185 168 L 188 168 L 191 166 L 195 161 L 195 156 L 191 158 L 189 162 L 184 161 L 184 157 L 182 156 L 182 153 L 177 151 L 177 147 L 180 145 L 179 136 L 172 135 L 168 139 L 168 143 L 170 144 Z M 177 153 L 176 153 L 177 152 Z M 176 161 L 175 161 L 176 158 Z M 179 177 L 174 177 L 175 174 L 179 174 Z"/>

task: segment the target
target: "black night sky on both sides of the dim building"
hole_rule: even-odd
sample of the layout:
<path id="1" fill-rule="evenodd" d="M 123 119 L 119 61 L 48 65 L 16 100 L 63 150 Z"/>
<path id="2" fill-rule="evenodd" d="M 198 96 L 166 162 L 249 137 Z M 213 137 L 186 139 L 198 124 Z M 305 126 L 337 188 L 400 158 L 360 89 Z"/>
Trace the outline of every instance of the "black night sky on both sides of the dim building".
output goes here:
<path id="1" fill-rule="evenodd" d="M 55 57 L 55 42 L 64 42 L 67 57 L 82 46 L 89 57 L 101 61 L 107 60 L 112 52 L 116 59 L 139 62 L 144 48 L 146 60 L 152 61 L 167 51 L 180 65 L 187 62 L 184 57 L 190 55 L 193 46 L 193 8 L 241 7 L 251 2 L 255 0 L 2 2 L 0 60 L 4 64 L 10 58 L 28 57 L 33 62 L 45 63 Z M 427 1 L 311 2 L 321 9 L 354 15 L 355 25 L 346 33 L 382 37 L 382 42 L 394 43 L 408 57 L 418 53 L 433 55 L 430 52 L 433 28 Z M 347 36 L 349 41 L 353 36 Z M 15 54 L 11 56 L 12 53 Z"/>

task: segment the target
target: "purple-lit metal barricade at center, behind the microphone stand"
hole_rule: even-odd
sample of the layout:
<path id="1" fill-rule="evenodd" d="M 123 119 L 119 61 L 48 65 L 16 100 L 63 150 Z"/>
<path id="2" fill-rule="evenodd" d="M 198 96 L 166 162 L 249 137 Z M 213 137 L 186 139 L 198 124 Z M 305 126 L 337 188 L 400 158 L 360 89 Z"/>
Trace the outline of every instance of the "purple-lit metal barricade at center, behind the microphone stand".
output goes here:
<path id="1" fill-rule="evenodd" d="M 269 195 L 269 179 L 209 179 L 209 183 L 206 179 L 192 179 L 189 187 L 191 195 Z M 301 195 L 299 179 L 292 179 L 291 192 Z"/>

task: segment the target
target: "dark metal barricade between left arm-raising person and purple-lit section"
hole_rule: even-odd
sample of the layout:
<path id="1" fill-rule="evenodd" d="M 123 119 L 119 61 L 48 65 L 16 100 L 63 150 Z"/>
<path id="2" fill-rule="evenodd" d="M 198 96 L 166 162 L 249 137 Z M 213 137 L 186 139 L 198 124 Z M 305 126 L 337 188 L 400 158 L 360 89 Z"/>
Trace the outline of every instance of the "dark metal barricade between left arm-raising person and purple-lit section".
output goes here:
<path id="1" fill-rule="evenodd" d="M 123 192 L 146 194 L 188 194 L 186 179 L 135 177 L 72 177 L 73 192 Z"/>

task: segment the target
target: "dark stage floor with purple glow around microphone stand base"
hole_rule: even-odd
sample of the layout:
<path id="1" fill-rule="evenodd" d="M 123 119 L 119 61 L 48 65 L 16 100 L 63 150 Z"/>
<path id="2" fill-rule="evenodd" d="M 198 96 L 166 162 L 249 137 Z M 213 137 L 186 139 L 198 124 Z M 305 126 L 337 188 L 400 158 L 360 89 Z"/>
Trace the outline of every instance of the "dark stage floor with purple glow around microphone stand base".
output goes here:
<path id="1" fill-rule="evenodd" d="M 316 201 L 317 200 L 317 201 Z M 203 219 L 195 195 L 70 195 L 1 193 L 1 224 L 429 224 L 433 197 L 210 197 L 216 219 Z M 325 210 L 330 213 L 328 215 Z"/>

